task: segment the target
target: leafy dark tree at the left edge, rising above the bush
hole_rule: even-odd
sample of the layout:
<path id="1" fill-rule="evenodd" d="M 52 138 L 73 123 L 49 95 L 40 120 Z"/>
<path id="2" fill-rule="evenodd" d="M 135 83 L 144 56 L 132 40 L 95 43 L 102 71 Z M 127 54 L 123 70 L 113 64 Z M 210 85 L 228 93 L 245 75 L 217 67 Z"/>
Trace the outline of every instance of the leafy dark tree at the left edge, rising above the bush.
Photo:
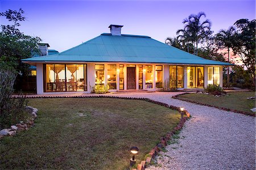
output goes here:
<path id="1" fill-rule="evenodd" d="M 19 31 L 20 22 L 24 21 L 24 11 L 22 9 L 7 10 L 0 13 L 11 24 L 1 25 L 0 32 L 0 64 L 6 69 L 14 69 L 20 73 L 16 77 L 16 86 L 20 87 L 22 75 L 26 74 L 28 65 L 22 63 L 21 59 L 25 59 L 40 53 L 39 42 L 41 39 L 37 36 L 24 35 Z"/>

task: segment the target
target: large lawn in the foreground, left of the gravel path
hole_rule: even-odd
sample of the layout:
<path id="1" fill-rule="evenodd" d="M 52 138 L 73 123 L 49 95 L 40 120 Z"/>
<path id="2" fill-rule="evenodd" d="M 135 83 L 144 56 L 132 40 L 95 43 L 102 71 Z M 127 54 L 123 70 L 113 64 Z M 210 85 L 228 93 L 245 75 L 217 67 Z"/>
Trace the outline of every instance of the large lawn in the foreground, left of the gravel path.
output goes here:
<path id="1" fill-rule="evenodd" d="M 142 160 L 180 114 L 150 102 L 114 98 L 36 98 L 35 126 L 0 140 L 1 169 L 126 169 Z"/>

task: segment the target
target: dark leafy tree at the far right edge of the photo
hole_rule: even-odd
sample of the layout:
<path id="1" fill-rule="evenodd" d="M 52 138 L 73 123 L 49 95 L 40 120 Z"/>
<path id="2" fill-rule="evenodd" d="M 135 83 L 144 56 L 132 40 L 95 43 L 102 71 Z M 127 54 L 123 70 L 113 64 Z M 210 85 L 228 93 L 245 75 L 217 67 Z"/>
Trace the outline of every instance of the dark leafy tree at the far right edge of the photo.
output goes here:
<path id="1" fill-rule="evenodd" d="M 240 19 L 234 23 L 237 34 L 234 35 L 232 49 L 235 55 L 240 56 L 250 74 L 251 82 L 255 87 L 255 19 Z"/>

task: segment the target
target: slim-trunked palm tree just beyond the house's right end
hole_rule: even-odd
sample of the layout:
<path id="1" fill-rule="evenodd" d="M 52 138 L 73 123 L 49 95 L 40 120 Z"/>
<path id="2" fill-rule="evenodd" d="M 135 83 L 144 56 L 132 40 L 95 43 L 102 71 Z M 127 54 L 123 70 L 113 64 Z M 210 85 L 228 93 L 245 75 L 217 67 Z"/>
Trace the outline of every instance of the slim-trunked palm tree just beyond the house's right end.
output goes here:
<path id="1" fill-rule="evenodd" d="M 229 27 L 228 30 L 220 30 L 218 34 L 216 34 L 216 42 L 221 48 L 228 48 L 228 62 L 229 62 L 229 51 L 232 47 L 232 42 L 234 35 L 236 35 L 236 28 L 233 26 Z M 229 67 L 228 67 L 228 78 L 227 85 L 229 86 Z"/>

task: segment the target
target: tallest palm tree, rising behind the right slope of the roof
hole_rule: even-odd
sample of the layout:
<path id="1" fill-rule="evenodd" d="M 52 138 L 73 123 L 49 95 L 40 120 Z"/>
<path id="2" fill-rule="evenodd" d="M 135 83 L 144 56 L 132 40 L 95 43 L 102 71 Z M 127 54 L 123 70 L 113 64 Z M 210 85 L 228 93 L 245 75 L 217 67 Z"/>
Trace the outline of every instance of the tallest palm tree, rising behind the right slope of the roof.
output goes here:
<path id="1" fill-rule="evenodd" d="M 201 22 L 200 19 L 202 16 L 206 17 L 204 12 L 200 12 L 197 15 L 191 14 L 182 22 L 183 24 L 185 24 L 184 30 L 189 32 L 189 35 L 191 35 L 191 39 L 194 45 L 196 44 L 196 55 L 198 54 L 199 40 L 202 38 L 205 31 L 210 30 L 210 26 L 212 25 L 209 19 Z"/>

